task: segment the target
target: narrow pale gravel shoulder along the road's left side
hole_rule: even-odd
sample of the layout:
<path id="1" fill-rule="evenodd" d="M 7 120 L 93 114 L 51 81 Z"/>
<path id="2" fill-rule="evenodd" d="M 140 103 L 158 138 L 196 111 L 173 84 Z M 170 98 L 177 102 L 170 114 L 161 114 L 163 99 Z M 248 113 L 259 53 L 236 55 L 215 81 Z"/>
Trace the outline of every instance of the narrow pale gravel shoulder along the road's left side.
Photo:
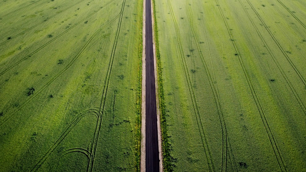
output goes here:
<path id="1" fill-rule="evenodd" d="M 141 88 L 141 148 L 140 171 L 146 171 L 146 3 L 142 13 L 142 88 Z"/>

